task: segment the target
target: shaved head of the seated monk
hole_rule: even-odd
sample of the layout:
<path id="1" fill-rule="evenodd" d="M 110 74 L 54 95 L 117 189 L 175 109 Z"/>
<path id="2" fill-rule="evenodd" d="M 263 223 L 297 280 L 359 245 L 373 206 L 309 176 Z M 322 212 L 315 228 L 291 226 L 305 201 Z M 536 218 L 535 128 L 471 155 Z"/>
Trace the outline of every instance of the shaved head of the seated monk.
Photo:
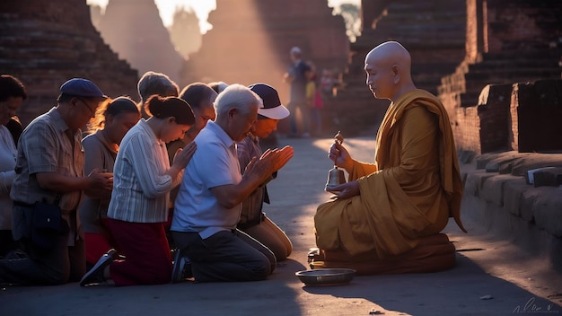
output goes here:
<path id="1" fill-rule="evenodd" d="M 410 69 L 409 52 L 397 41 L 382 43 L 364 58 L 366 83 L 378 99 L 393 101 L 404 92 L 416 89 Z"/>

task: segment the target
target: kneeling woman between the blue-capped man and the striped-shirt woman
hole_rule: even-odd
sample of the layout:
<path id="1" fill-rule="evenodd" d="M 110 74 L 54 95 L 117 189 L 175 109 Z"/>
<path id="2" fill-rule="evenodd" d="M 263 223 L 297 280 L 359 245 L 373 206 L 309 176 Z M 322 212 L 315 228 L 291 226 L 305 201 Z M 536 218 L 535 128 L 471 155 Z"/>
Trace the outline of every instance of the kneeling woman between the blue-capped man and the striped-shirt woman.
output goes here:
<path id="1" fill-rule="evenodd" d="M 119 151 L 119 144 L 127 131 L 140 119 L 135 101 L 119 97 L 106 101 L 96 111 L 89 127 L 93 134 L 82 140 L 86 156 L 84 173 L 93 170 L 113 173 L 113 165 Z M 78 214 L 82 222 L 86 242 L 86 264 L 89 267 L 111 248 L 118 248 L 108 227 L 108 206 L 111 192 L 101 197 L 83 199 Z"/>

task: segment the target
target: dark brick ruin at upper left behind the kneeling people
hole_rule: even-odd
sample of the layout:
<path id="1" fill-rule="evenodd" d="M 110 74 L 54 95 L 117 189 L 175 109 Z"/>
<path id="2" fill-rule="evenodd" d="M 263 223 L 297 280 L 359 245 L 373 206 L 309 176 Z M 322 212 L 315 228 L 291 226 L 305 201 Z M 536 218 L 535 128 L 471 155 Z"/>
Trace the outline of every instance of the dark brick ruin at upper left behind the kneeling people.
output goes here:
<path id="1" fill-rule="evenodd" d="M 138 80 L 93 28 L 85 0 L 0 2 L 0 73 L 26 86 L 17 112 L 23 125 L 55 105 L 72 77 L 92 80 L 110 97 L 135 96 Z"/>

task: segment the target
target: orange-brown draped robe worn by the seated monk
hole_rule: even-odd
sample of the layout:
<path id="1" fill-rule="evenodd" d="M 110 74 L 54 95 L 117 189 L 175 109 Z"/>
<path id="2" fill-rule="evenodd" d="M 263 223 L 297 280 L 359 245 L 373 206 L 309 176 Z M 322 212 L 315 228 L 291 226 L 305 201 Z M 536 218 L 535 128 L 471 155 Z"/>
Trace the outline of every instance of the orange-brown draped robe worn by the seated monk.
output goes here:
<path id="1" fill-rule="evenodd" d="M 360 195 L 318 207 L 317 245 L 350 256 L 398 255 L 439 233 L 452 216 L 462 231 L 462 183 L 443 105 L 423 90 L 391 103 L 379 127 L 374 163 L 354 162 Z"/>

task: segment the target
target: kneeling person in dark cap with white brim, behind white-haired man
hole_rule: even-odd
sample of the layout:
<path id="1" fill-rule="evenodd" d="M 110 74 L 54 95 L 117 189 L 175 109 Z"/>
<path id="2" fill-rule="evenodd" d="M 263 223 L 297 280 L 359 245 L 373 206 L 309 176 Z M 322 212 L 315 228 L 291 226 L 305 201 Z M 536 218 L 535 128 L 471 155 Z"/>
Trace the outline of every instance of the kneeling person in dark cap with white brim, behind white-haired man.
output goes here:
<path id="1" fill-rule="evenodd" d="M 260 157 L 262 154 L 259 139 L 269 136 L 277 129 L 279 120 L 289 116 L 289 110 L 281 104 L 275 88 L 265 83 L 255 83 L 250 85 L 249 88 L 259 95 L 263 101 L 263 108 L 258 109 L 258 120 L 250 127 L 248 136 L 236 144 L 242 176 L 251 160 L 254 157 Z M 277 172 L 274 172 L 271 179 L 276 177 Z M 269 203 L 268 189 L 265 183 L 255 189 L 250 197 L 242 202 L 241 217 L 236 227 L 273 251 L 277 261 L 283 261 L 293 251 L 293 244 L 285 232 L 262 211 L 264 202 Z"/>

